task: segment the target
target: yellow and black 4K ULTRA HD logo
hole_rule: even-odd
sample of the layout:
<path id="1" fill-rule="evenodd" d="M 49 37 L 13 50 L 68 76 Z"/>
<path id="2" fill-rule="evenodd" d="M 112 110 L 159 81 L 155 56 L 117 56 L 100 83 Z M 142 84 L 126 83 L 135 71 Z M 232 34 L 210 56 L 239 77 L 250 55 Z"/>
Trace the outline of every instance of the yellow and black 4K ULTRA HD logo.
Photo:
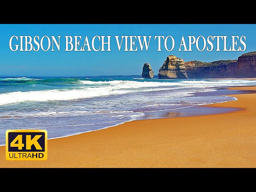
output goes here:
<path id="1" fill-rule="evenodd" d="M 47 160 L 47 131 L 7 130 L 6 160 Z"/>

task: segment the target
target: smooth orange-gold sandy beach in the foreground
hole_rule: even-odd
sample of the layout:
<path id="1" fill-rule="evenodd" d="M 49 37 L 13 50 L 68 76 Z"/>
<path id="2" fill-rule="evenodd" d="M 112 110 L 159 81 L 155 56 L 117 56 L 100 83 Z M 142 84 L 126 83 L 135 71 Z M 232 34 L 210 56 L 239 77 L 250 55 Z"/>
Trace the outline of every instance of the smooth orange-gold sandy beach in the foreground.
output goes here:
<path id="1" fill-rule="evenodd" d="M 0 146 L 0 168 L 255 168 L 256 94 L 230 96 L 238 100 L 208 106 L 241 110 L 136 120 L 48 140 L 46 161 L 7 161 Z"/>

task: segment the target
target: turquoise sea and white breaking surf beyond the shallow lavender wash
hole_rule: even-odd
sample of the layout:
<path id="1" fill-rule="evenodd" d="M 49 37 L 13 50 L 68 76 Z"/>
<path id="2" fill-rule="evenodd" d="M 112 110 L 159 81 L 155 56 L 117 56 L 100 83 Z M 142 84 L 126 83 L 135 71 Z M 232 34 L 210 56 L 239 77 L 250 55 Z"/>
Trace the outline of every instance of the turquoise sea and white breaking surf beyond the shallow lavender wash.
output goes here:
<path id="1" fill-rule="evenodd" d="M 144 79 L 94 81 L 79 78 L 0 78 L 0 105 L 29 101 L 75 100 L 132 92 L 159 91 L 160 93 L 163 90 L 173 90 L 172 96 L 177 94 L 186 96 L 197 91 L 214 90 L 211 87 L 254 82 L 246 80 L 166 80 L 166 82 L 151 80 L 142 82 L 138 80 Z M 6 90 L 12 88 L 12 91 L 6 92 L 5 88 Z"/>

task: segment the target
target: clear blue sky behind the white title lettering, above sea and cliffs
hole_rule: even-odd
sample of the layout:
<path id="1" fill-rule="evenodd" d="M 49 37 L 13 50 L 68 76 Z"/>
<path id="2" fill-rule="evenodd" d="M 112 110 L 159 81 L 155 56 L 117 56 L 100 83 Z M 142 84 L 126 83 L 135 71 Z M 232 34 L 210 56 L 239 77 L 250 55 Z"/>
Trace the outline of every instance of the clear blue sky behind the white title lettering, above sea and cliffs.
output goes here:
<path id="1" fill-rule="evenodd" d="M 201 60 L 211 62 L 216 60 L 237 59 L 238 56 L 256 51 L 256 24 L 0 24 L 0 76 L 96 76 L 96 75 L 141 75 L 145 62 L 150 63 L 157 75 L 168 55 L 178 56 L 184 61 Z M 11 36 L 61 36 L 60 51 L 11 51 L 9 40 Z M 64 51 L 66 48 L 64 36 L 82 36 L 80 45 L 88 36 L 92 49 L 94 36 L 111 36 L 111 51 Z M 138 39 L 135 40 L 137 51 L 124 51 L 124 45 L 118 51 L 114 36 L 152 36 L 149 48 L 140 50 Z M 172 36 L 175 46 L 172 51 L 164 48 L 158 50 L 158 41 L 154 36 Z M 231 36 L 246 36 L 245 51 L 216 51 L 216 40 L 212 51 L 198 51 L 192 45 L 193 51 L 178 51 L 181 38 L 184 36 L 188 46 L 188 36 L 228 36 L 227 47 L 232 44 Z M 96 39 L 97 40 L 97 39 Z M 106 39 L 107 40 L 107 39 Z M 13 45 L 17 43 L 14 39 Z M 18 41 L 20 43 L 20 41 Z M 98 48 L 100 42 L 95 41 Z M 128 40 L 128 43 L 130 41 Z M 202 48 L 202 39 L 199 47 Z M 74 41 L 73 41 L 74 44 Z M 33 43 L 34 45 L 34 43 Z M 167 41 L 169 47 L 171 41 Z M 207 44 L 208 45 L 208 44 Z M 238 46 L 240 41 L 238 40 Z M 44 41 L 47 47 L 47 42 Z M 14 46 L 13 46 L 14 47 Z M 242 46 L 243 47 L 243 46 Z M 15 48 L 15 47 L 14 47 Z M 130 48 L 130 44 L 128 49 Z"/>

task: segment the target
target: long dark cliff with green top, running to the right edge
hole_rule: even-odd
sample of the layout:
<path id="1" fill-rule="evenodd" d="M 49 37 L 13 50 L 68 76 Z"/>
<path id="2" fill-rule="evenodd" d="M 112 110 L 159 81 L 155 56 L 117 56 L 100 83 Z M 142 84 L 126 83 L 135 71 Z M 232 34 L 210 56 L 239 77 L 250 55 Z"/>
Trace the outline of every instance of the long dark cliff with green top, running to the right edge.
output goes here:
<path id="1" fill-rule="evenodd" d="M 242 54 L 238 60 L 184 62 L 188 78 L 252 78 L 256 77 L 256 52 Z"/>

